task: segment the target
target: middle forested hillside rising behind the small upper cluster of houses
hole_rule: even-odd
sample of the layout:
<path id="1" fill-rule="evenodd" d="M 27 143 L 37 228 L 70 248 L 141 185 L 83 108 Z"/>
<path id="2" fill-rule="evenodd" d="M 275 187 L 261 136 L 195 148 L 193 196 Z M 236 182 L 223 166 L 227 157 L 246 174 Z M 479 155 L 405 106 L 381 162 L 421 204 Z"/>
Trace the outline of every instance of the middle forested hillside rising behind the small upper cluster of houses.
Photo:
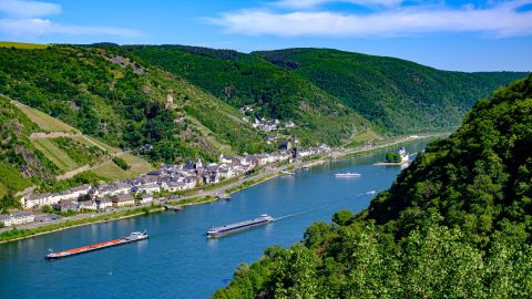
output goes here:
<path id="1" fill-rule="evenodd" d="M 184 45 L 129 45 L 130 53 L 188 80 L 256 117 L 294 121 L 304 143 L 338 145 L 369 130 L 369 123 L 304 78 L 258 56 L 233 50 Z"/>

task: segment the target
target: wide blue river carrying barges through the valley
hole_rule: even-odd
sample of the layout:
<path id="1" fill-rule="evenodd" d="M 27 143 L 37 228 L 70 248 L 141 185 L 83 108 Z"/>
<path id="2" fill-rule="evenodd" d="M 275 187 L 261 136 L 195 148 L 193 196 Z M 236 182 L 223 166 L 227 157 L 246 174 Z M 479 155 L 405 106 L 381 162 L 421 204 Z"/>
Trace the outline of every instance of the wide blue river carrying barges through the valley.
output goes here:
<path id="1" fill-rule="evenodd" d="M 424 142 L 407 146 L 420 151 Z M 306 227 L 335 212 L 360 212 L 388 188 L 400 167 L 374 166 L 383 152 L 326 163 L 233 194 L 229 202 L 182 212 L 93 224 L 0 244 L 1 298 L 207 298 L 231 281 L 241 261 L 274 245 L 301 240 Z M 337 178 L 356 172 L 360 177 Z M 205 230 L 269 214 L 278 220 L 219 239 Z M 146 230 L 150 239 L 61 260 L 44 255 Z"/>

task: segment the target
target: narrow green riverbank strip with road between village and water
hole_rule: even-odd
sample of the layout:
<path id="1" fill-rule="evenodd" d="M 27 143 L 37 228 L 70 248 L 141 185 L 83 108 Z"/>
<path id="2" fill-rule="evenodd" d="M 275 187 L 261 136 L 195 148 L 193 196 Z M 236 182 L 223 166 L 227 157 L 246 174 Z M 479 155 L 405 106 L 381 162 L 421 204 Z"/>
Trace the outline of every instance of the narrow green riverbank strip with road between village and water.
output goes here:
<path id="1" fill-rule="evenodd" d="M 436 137 L 441 137 L 447 135 L 449 135 L 449 133 L 426 134 L 426 135 L 417 136 L 416 138 L 400 137 L 389 143 L 376 145 L 372 147 L 364 147 L 364 148 L 355 148 L 355 150 L 342 148 L 340 151 L 335 151 L 334 153 L 330 153 L 326 156 L 317 156 L 316 158 L 305 161 L 300 165 L 298 165 L 297 168 L 308 168 L 308 167 L 320 165 L 330 159 L 344 159 L 344 158 L 355 157 L 358 155 L 367 155 L 374 152 L 393 147 L 401 143 L 408 144 L 410 142 L 418 142 L 427 138 L 436 138 Z M 187 194 L 185 196 L 182 196 L 178 200 L 164 200 L 164 198 L 162 198 L 161 202 L 166 204 L 178 205 L 178 206 L 192 206 L 192 205 L 213 203 L 216 200 L 224 200 L 223 198 L 219 198 L 219 195 L 231 195 L 233 193 L 249 188 L 252 186 L 267 182 L 272 178 L 285 175 L 285 172 L 287 169 L 293 169 L 293 168 L 296 168 L 294 164 L 283 164 L 280 166 L 279 165 L 265 166 L 263 169 L 260 169 L 258 173 L 256 173 L 253 176 L 245 176 L 242 178 L 231 179 L 217 186 L 208 186 L 203 192 L 200 192 L 196 194 Z M 150 206 L 127 208 L 124 210 L 119 210 L 115 213 L 109 213 L 109 214 L 98 215 L 98 216 L 76 215 L 73 217 L 62 218 L 60 219 L 59 223 L 53 223 L 53 224 L 45 224 L 45 223 L 42 223 L 42 225 L 30 224 L 29 226 L 37 226 L 37 227 L 22 228 L 22 229 L 13 228 L 11 230 L 1 233 L 0 244 L 12 241 L 12 240 L 19 240 L 23 238 L 30 238 L 30 237 L 49 234 L 58 230 L 69 229 L 78 226 L 83 226 L 83 225 L 89 225 L 94 223 L 112 221 L 112 220 L 123 219 L 127 217 L 135 217 L 135 216 L 141 216 L 150 213 L 157 213 L 157 212 L 164 210 L 163 207 L 157 207 L 153 210 L 150 209 L 146 213 L 145 212 L 146 208 L 150 208 Z M 22 227 L 28 227 L 28 226 L 22 226 Z"/>

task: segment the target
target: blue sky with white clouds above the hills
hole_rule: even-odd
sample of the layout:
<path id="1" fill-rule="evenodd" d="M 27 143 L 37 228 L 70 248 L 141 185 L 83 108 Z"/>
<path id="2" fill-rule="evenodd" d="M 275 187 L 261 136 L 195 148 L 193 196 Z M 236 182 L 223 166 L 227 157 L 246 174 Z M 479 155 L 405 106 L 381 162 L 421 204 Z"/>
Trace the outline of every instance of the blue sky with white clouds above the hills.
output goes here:
<path id="1" fill-rule="evenodd" d="M 532 71 L 532 0 L 0 0 L 0 40 L 334 48 L 450 71 Z"/>

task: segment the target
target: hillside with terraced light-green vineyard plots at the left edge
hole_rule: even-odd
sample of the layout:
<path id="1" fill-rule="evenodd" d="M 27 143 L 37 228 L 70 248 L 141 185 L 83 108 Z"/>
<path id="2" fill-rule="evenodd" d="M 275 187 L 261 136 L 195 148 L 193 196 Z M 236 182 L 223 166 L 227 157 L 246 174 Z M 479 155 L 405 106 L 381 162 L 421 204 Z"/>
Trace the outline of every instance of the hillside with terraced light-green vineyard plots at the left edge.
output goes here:
<path id="1" fill-rule="evenodd" d="M 29 186 L 57 190 L 83 183 L 132 178 L 153 169 L 140 157 L 6 96 L 0 96 L 0 198 Z M 113 157 L 121 157 L 130 168 L 120 168 Z"/>

